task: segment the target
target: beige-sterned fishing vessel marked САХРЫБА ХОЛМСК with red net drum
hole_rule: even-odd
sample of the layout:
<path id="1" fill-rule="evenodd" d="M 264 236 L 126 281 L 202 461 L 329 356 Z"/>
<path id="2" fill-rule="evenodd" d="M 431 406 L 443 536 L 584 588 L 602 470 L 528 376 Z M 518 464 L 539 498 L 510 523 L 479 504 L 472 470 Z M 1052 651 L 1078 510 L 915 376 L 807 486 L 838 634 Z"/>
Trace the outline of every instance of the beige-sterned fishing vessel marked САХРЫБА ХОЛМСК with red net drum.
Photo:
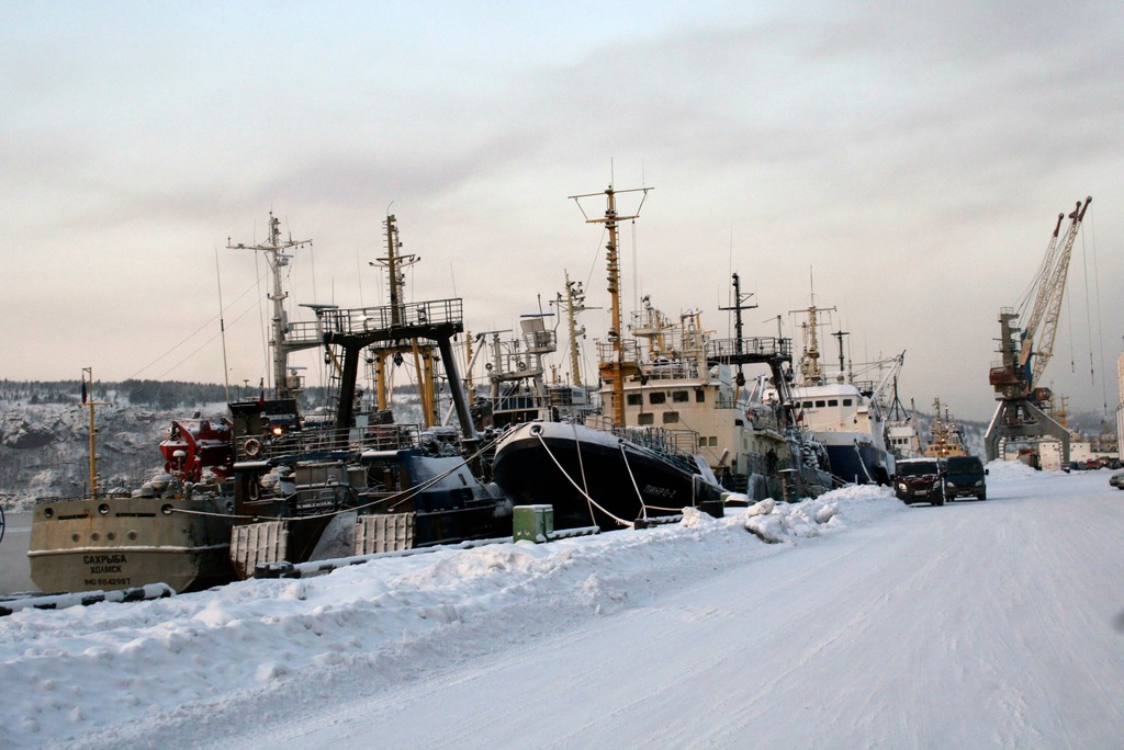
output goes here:
<path id="1" fill-rule="evenodd" d="M 270 214 L 265 253 L 274 301 L 272 338 L 274 378 L 292 384 L 285 371 L 284 336 L 288 320 L 281 301 L 281 269 L 288 265 L 287 250 L 305 241 L 282 240 L 280 221 Z M 244 248 L 245 246 L 232 246 Z M 89 494 L 81 499 L 48 499 L 35 507 L 28 551 L 31 580 L 45 592 L 119 589 L 164 583 L 178 592 L 225 583 L 234 577 L 230 561 L 232 512 L 235 459 L 235 429 L 242 420 L 239 445 L 260 446 L 266 436 L 281 432 L 296 421 L 296 400 L 266 402 L 260 399 L 229 404 L 235 421 L 226 418 L 173 420 L 161 442 L 164 472 L 139 490 L 103 491 L 96 468 L 94 406 L 87 400 L 84 371 L 83 404 L 90 409 Z M 282 385 L 283 387 L 283 385 Z"/>

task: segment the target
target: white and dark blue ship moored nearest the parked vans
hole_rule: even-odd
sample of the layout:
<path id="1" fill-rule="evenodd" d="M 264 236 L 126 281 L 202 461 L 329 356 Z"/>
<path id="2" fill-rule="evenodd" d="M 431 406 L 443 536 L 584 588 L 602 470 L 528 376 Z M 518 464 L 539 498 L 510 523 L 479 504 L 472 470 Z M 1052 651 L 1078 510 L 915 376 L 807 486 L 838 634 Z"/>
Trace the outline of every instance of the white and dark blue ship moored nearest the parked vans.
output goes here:
<path id="1" fill-rule="evenodd" d="M 879 382 L 856 379 L 843 356 L 845 331 L 833 336 L 840 341 L 839 368 L 830 373 L 821 363 L 819 314 L 834 308 L 813 303 L 794 313 L 807 317 L 804 323 L 804 356 L 791 394 L 798 421 L 827 450 L 832 474 L 843 482 L 889 485 L 894 455 L 886 445 L 881 401 L 901 367 L 905 353 L 873 363 L 872 372 L 886 369 Z"/>

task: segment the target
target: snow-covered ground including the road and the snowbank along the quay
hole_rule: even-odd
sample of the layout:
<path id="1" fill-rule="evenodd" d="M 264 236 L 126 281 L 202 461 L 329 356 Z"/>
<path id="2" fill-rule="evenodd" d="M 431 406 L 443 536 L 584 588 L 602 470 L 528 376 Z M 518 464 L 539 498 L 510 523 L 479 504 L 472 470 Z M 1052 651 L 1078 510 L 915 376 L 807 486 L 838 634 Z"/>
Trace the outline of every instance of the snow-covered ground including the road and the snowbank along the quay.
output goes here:
<path id="1" fill-rule="evenodd" d="M 1120 748 L 1124 493 L 990 469 L 18 612 L 0 744 Z"/>

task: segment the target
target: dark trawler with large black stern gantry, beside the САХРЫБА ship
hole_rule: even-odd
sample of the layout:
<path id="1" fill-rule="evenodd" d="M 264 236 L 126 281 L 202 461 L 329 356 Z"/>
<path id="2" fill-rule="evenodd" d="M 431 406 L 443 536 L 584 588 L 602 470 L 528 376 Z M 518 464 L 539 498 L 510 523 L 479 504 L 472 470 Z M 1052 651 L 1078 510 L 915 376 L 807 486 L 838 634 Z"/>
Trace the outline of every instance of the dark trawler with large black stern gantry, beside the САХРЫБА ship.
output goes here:
<path id="1" fill-rule="evenodd" d="M 401 269 L 411 259 L 399 254 L 392 214 L 384 227 L 388 255 L 379 260 L 389 272 L 389 304 L 306 305 L 315 321 L 284 319 L 278 330 L 275 356 L 324 350 L 333 393 L 327 419 L 314 426 L 299 413 L 287 421 L 285 409 L 280 418 L 233 409 L 230 556 L 239 577 L 263 566 L 510 534 L 510 503 L 473 470 L 480 438 L 452 348 L 464 331 L 462 301 L 406 302 Z M 280 298 L 273 295 L 275 304 Z M 418 373 L 420 424 L 395 422 L 391 409 L 388 371 L 407 358 Z M 438 424 L 438 359 L 460 430 Z M 364 363 L 373 379 L 369 408 L 359 387 Z M 275 371 L 284 374 L 284 363 Z M 279 382 L 288 388 L 293 378 Z M 296 409 L 290 391 L 277 395 L 277 404 Z"/>

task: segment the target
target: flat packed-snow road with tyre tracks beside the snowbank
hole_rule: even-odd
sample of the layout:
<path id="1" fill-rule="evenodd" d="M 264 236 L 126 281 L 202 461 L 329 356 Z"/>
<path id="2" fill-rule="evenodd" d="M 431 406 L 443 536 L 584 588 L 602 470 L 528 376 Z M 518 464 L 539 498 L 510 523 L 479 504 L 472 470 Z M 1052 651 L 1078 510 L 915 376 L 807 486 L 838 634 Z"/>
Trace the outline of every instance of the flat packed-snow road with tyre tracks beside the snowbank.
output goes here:
<path id="1" fill-rule="evenodd" d="M 1124 496 L 1048 496 L 1073 483 L 915 507 L 247 746 L 1118 748 Z"/>

